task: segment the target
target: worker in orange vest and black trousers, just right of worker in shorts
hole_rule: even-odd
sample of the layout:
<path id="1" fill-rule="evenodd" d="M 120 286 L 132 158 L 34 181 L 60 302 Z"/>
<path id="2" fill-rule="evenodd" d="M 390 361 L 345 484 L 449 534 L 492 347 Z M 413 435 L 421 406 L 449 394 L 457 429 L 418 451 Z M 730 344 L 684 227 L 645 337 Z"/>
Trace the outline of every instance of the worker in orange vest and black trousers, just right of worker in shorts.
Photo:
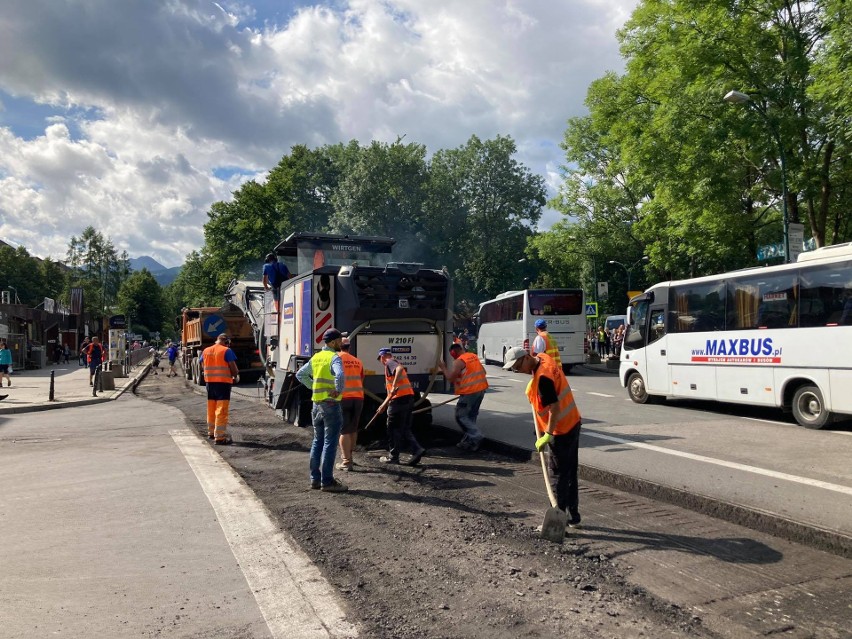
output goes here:
<path id="1" fill-rule="evenodd" d="M 385 391 L 387 397 L 379 406 L 378 414 L 388 412 L 388 454 L 380 457 L 383 464 L 399 464 L 399 454 L 404 445 L 411 451 L 409 466 L 416 466 L 423 459 L 426 449 L 414 438 L 411 422 L 414 410 L 414 389 L 408 380 L 405 366 L 397 362 L 391 349 L 380 348 L 377 358 L 385 367 Z"/>

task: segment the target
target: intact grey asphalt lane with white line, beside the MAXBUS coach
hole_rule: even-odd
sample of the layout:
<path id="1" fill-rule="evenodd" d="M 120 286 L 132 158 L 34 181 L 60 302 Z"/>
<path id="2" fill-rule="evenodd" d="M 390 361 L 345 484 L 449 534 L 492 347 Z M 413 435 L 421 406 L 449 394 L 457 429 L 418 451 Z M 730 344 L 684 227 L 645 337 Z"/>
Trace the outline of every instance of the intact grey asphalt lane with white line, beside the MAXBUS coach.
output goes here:
<path id="1" fill-rule="evenodd" d="M 524 397 L 529 377 L 497 366 L 486 370 L 492 392 L 483 402 L 480 427 L 489 439 L 531 450 Z M 848 423 L 812 431 L 762 408 L 686 401 L 637 405 L 616 375 L 582 367 L 570 381 L 583 415 L 583 465 L 852 539 Z M 452 404 L 437 407 L 435 421 L 452 424 L 452 410 Z"/>

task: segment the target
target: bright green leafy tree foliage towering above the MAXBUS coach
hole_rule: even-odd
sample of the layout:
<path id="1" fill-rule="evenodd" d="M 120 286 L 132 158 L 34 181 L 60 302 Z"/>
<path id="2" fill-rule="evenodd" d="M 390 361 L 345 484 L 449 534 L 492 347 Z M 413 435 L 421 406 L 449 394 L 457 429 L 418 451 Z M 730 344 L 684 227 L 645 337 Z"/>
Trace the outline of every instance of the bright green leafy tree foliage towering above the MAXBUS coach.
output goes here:
<path id="1" fill-rule="evenodd" d="M 553 205 L 611 259 L 649 255 L 655 277 L 737 268 L 781 241 L 783 155 L 790 221 L 820 245 L 848 239 L 844 11 L 644 0 L 620 33 L 625 73 L 594 82 L 589 115 L 569 121 Z M 752 101 L 725 103 L 731 89 Z"/>

